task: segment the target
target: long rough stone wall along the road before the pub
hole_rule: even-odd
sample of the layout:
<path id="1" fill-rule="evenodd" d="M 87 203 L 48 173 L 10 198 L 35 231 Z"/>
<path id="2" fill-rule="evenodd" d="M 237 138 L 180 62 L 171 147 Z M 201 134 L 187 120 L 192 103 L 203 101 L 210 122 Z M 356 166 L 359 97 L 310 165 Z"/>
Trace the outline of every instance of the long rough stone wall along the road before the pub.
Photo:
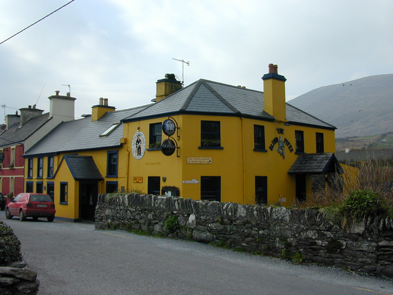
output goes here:
<path id="1" fill-rule="evenodd" d="M 393 277 L 390 217 L 370 218 L 343 230 L 333 215 L 316 209 L 140 194 L 100 194 L 95 214 L 96 229 L 140 230 Z M 175 222 L 167 222 L 166 228 L 170 216 Z"/>

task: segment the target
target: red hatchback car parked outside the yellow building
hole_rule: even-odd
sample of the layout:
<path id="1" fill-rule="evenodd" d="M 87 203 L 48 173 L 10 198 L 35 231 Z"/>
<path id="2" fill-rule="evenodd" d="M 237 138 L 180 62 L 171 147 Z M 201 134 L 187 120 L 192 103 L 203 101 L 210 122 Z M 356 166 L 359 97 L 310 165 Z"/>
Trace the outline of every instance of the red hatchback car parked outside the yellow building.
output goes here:
<path id="1" fill-rule="evenodd" d="M 5 218 L 19 216 L 21 221 L 27 217 L 37 220 L 39 217 L 48 218 L 49 222 L 55 219 L 55 203 L 52 198 L 45 194 L 22 193 L 8 203 L 5 209 Z"/>

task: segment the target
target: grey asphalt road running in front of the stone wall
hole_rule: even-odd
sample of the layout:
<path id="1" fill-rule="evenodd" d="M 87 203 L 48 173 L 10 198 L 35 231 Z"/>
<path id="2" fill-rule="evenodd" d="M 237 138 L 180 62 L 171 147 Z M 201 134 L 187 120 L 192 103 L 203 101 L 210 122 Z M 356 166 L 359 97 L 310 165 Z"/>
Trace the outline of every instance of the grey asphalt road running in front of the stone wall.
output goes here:
<path id="1" fill-rule="evenodd" d="M 92 223 L 6 220 L 38 272 L 38 295 L 393 295 L 393 281 L 292 265 L 196 242 L 94 230 Z"/>

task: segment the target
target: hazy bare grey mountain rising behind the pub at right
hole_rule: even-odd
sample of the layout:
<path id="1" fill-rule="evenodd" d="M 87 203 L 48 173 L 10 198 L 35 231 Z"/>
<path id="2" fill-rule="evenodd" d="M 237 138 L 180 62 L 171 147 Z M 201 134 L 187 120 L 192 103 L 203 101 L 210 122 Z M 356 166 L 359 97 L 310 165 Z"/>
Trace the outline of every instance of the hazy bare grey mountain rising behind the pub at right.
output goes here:
<path id="1" fill-rule="evenodd" d="M 320 87 L 287 103 L 337 127 L 336 138 L 393 131 L 393 74 Z"/>

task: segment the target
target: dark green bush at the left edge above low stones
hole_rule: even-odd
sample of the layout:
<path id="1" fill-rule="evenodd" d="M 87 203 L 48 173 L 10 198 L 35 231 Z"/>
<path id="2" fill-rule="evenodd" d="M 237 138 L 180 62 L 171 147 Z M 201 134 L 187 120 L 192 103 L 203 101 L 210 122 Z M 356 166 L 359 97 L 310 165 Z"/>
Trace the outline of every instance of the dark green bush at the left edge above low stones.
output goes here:
<path id="1" fill-rule="evenodd" d="M 12 229 L 0 220 L 0 266 L 22 260 L 21 242 Z"/>

